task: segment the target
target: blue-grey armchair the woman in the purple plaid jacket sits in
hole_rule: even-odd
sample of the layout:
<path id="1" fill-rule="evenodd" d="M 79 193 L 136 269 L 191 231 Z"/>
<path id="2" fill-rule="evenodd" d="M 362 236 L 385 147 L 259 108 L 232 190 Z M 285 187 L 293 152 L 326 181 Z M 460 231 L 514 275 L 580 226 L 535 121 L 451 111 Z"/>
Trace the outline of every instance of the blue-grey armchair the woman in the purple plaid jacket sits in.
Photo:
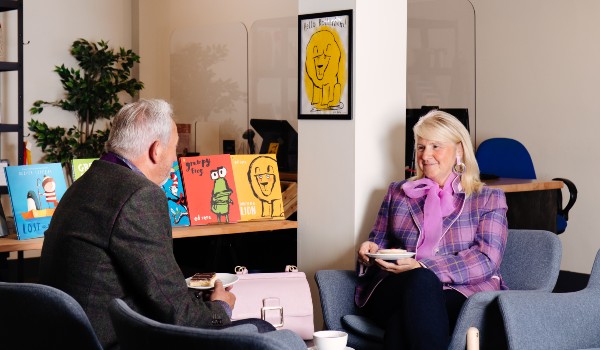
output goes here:
<path id="1" fill-rule="evenodd" d="M 560 270 L 561 244 L 548 231 L 509 230 L 500 272 L 510 291 L 481 292 L 465 302 L 449 348 L 466 348 L 467 329 L 477 327 L 482 349 L 505 349 L 502 317 L 497 297 L 519 290 L 550 292 Z M 355 349 L 383 348 L 383 330 L 361 315 L 354 304 L 356 273 L 352 270 L 321 270 L 315 274 L 325 329 L 348 333 Z M 548 293 L 549 294 L 549 293 Z"/>

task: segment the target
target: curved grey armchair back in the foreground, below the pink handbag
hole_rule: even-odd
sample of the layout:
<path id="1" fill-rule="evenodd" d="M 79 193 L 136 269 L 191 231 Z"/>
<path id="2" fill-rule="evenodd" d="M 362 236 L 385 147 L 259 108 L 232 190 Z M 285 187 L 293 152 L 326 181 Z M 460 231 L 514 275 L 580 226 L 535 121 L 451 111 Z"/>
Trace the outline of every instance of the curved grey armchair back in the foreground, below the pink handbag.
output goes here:
<path id="1" fill-rule="evenodd" d="M 121 299 L 111 302 L 109 312 L 122 350 L 306 350 L 302 338 L 290 330 L 258 333 L 250 324 L 223 330 L 170 325 L 140 315 Z"/>

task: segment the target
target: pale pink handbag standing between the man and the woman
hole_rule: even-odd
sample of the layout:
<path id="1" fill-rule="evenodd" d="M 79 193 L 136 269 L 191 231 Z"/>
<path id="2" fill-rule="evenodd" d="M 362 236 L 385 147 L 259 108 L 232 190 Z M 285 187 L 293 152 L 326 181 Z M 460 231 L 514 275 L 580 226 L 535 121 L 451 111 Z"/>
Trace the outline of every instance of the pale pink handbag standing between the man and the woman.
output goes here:
<path id="1" fill-rule="evenodd" d="M 295 266 L 275 273 L 248 274 L 237 266 L 239 280 L 231 290 L 235 296 L 232 320 L 261 318 L 277 329 L 289 329 L 302 339 L 312 339 L 315 331 L 313 305 L 304 272 Z"/>

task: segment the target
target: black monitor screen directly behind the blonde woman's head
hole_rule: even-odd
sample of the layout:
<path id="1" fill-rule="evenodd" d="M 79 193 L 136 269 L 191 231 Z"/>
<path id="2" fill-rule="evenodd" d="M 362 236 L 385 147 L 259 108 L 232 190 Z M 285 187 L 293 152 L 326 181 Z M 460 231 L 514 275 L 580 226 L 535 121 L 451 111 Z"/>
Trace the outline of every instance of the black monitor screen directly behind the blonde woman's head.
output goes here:
<path id="1" fill-rule="evenodd" d="M 405 149 L 405 169 L 404 175 L 408 179 L 411 176 L 416 175 L 415 168 L 415 135 L 413 134 L 413 127 L 419 121 L 419 118 L 427 114 L 432 109 L 437 109 L 446 113 L 450 113 L 460 120 L 461 123 L 469 131 L 469 110 L 467 108 L 438 108 L 434 106 L 423 106 L 421 108 L 407 108 L 406 109 L 406 149 Z"/>

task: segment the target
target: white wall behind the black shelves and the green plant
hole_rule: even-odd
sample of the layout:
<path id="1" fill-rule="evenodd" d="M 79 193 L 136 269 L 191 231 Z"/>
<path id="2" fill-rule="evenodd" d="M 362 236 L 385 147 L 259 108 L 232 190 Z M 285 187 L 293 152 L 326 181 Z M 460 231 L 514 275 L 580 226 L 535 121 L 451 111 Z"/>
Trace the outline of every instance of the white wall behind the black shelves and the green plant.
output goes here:
<path id="1" fill-rule="evenodd" d="M 29 108 L 36 100 L 54 101 L 64 96 L 60 79 L 54 73 L 56 65 L 78 68 L 70 55 L 73 41 L 84 38 L 90 41 L 105 40 L 109 46 L 131 48 L 131 1 L 130 0 L 25 0 L 23 5 L 23 79 L 24 79 L 24 123 L 25 135 L 29 133 L 27 122 L 31 119 Z M 17 60 L 16 36 L 17 18 L 15 12 L 0 15 L 4 29 L 7 60 Z M 16 123 L 17 113 L 17 74 L 3 73 L 0 92 L 2 96 L 2 121 Z M 75 115 L 59 108 L 47 108 L 34 119 L 50 126 L 61 125 L 68 128 L 75 125 Z M 0 136 L 1 158 L 17 164 L 16 133 Z M 34 143 L 33 137 L 27 138 Z M 33 145 L 32 160 L 41 162 L 43 153 Z M 2 205 L 7 215 L 10 212 L 8 196 L 2 196 Z M 16 254 L 12 254 L 13 256 Z M 37 256 L 39 252 L 27 252 L 25 256 Z"/>

